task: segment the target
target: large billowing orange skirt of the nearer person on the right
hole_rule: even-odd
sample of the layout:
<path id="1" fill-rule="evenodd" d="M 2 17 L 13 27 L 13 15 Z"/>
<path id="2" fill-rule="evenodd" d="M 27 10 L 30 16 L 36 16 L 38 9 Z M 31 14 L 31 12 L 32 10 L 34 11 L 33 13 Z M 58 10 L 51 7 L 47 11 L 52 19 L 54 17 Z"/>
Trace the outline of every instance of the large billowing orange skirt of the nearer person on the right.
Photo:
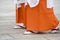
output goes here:
<path id="1" fill-rule="evenodd" d="M 38 6 L 30 8 L 26 6 L 27 30 L 47 31 L 57 27 L 59 21 L 54 15 L 53 8 L 47 8 L 47 0 L 40 0 Z"/>

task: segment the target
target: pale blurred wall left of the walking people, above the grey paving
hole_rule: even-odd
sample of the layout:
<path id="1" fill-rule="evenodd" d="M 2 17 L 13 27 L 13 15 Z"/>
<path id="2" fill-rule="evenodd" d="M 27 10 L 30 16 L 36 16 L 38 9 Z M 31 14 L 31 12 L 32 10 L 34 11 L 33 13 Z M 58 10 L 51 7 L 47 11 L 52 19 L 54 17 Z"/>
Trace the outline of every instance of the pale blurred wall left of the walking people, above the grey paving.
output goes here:
<path id="1" fill-rule="evenodd" d="M 15 16 L 13 0 L 0 0 L 0 16 Z"/>

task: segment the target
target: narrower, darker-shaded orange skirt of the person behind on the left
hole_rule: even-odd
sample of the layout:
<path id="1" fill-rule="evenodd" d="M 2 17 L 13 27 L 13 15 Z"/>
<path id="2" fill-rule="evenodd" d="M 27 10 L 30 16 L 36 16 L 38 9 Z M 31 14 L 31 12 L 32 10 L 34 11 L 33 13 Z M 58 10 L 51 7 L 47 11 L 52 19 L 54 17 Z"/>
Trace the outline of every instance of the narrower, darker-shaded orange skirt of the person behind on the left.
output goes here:
<path id="1" fill-rule="evenodd" d="M 25 23 L 25 7 L 24 3 L 21 4 L 21 7 L 16 7 L 16 23 Z"/>

